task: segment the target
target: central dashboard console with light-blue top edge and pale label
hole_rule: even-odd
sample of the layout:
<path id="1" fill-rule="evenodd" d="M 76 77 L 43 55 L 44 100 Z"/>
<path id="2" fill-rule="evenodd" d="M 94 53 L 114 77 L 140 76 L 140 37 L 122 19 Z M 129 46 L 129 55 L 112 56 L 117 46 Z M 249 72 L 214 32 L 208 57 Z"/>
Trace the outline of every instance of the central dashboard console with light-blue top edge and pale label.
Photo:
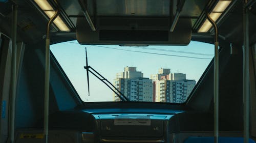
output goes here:
<path id="1" fill-rule="evenodd" d="M 174 115 L 106 113 L 93 116 L 99 142 L 165 142 L 168 121 Z"/>

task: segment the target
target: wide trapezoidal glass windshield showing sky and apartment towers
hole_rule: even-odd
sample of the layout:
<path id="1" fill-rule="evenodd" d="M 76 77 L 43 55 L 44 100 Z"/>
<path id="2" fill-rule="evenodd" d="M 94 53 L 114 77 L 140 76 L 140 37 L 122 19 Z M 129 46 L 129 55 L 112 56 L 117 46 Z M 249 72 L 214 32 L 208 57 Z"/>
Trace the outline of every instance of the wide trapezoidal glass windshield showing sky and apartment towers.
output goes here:
<path id="1" fill-rule="evenodd" d="M 120 91 L 130 101 L 183 103 L 214 57 L 214 45 L 195 41 L 187 46 L 79 45 L 69 41 L 51 45 L 51 51 L 85 102 L 121 101 Z M 97 72 L 103 77 L 93 75 Z M 116 89 L 106 86 L 105 79 Z"/>

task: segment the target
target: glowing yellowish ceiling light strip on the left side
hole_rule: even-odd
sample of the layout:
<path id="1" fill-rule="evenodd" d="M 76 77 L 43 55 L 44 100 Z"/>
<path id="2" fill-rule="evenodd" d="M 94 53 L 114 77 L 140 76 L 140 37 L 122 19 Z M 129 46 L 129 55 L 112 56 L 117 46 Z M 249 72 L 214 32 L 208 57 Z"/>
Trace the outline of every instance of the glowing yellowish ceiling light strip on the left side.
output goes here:
<path id="1" fill-rule="evenodd" d="M 51 18 L 54 13 L 55 13 L 55 10 L 53 9 L 53 7 L 48 3 L 47 0 L 34 0 L 34 2 L 40 7 L 40 9 L 42 11 L 44 11 L 44 13 L 49 17 Z M 55 18 L 55 20 L 53 21 L 53 23 L 58 27 L 58 29 L 60 31 L 66 31 L 66 32 L 69 32 L 70 29 L 69 27 L 63 22 L 63 20 L 57 16 Z"/>

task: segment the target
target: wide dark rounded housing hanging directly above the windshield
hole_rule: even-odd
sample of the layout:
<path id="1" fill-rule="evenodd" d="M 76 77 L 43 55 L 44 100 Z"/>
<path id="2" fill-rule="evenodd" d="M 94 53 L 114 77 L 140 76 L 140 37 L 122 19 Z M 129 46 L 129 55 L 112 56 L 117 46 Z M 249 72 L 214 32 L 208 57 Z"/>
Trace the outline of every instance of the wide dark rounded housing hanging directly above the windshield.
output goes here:
<path id="1" fill-rule="evenodd" d="M 190 19 L 179 19 L 169 32 L 168 18 L 101 17 L 94 20 L 92 31 L 85 17 L 77 18 L 76 38 L 80 44 L 110 45 L 188 45 L 191 40 Z"/>

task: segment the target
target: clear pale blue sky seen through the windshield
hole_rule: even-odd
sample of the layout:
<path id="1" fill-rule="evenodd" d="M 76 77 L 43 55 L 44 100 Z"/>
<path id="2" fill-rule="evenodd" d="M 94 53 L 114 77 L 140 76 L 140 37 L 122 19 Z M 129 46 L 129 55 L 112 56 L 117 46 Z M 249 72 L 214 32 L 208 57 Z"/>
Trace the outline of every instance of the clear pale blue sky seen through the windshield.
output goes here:
<path id="1" fill-rule="evenodd" d="M 123 72 L 124 67 L 126 66 L 137 67 L 137 71 L 142 71 L 142 73 L 144 73 L 144 77 L 150 77 L 151 74 L 158 73 L 159 68 L 169 68 L 172 73 L 185 73 L 187 79 L 195 79 L 198 81 L 209 62 L 214 57 L 214 45 L 195 41 L 191 41 L 188 46 L 95 46 L 79 45 L 77 41 L 51 45 L 51 51 L 55 55 L 55 58 L 66 72 L 81 99 L 86 102 L 113 101 L 113 92 L 96 77 L 90 74 L 90 96 L 88 96 L 87 75 L 86 70 L 83 68 L 83 66 L 86 65 L 85 47 L 87 47 L 89 66 L 97 70 L 110 82 L 113 82 L 113 79 L 116 77 L 116 73 Z M 160 50 L 152 50 L 152 48 Z M 209 55 L 184 52 L 194 52 Z M 205 59 L 184 58 L 170 55 L 193 56 L 196 58 Z"/>

